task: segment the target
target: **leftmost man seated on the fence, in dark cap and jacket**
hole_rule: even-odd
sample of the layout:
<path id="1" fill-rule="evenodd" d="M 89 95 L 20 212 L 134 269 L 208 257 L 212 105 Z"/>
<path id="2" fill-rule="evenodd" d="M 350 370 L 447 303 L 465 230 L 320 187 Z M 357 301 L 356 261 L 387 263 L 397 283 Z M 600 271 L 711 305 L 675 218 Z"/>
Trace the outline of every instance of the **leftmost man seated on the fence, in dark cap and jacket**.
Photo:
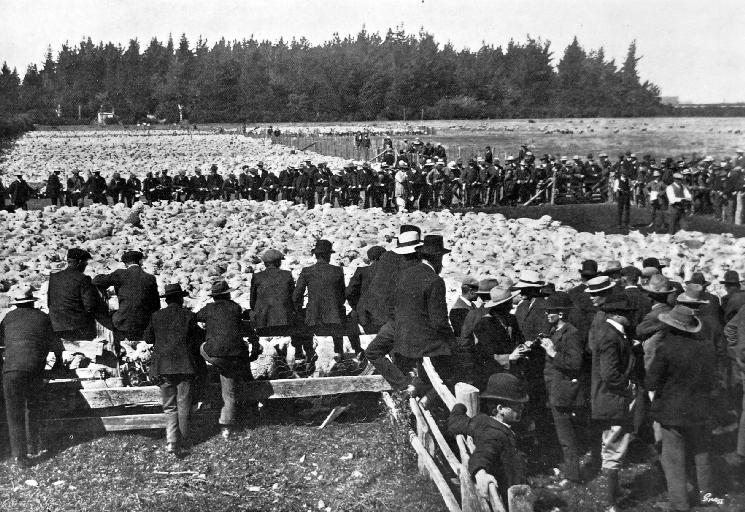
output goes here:
<path id="1" fill-rule="evenodd" d="M 65 269 L 49 275 L 47 307 L 54 332 L 60 338 L 96 337 L 96 314 L 104 304 L 91 278 L 83 273 L 90 259 L 88 251 L 73 247 L 67 251 Z"/>

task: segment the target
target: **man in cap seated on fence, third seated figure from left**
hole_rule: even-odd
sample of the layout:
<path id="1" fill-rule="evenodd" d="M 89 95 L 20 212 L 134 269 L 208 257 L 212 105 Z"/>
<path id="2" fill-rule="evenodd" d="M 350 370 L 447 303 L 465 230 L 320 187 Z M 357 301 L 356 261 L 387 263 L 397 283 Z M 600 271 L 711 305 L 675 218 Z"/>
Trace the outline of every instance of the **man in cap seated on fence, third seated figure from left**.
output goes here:
<path id="1" fill-rule="evenodd" d="M 264 251 L 261 261 L 266 269 L 251 278 L 251 322 L 259 336 L 286 336 L 298 324 L 292 302 L 295 280 L 290 271 L 279 268 L 283 259 L 284 254 L 276 249 Z M 295 366 L 312 365 L 317 359 L 313 336 L 293 335 L 290 340 Z"/>

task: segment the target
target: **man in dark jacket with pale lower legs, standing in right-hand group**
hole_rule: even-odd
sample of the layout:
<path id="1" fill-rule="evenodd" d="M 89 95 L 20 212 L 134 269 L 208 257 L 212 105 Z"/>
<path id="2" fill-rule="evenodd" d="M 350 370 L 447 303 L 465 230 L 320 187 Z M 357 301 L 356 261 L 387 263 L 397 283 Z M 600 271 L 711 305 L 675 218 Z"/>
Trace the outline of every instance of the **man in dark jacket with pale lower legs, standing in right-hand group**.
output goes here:
<path id="1" fill-rule="evenodd" d="M 597 278 L 601 279 L 601 278 Z M 605 277 L 605 284 L 591 280 L 590 293 L 602 293 L 613 285 Z M 629 447 L 631 423 L 629 406 L 633 399 L 632 379 L 635 359 L 631 340 L 625 329 L 633 313 L 629 298 L 624 294 L 604 296 L 600 310 L 605 321 L 594 322 L 590 329 L 588 347 L 592 352 L 591 406 L 592 418 L 603 429 L 602 469 L 605 476 L 606 510 L 615 510 L 618 498 L 618 472 Z"/>

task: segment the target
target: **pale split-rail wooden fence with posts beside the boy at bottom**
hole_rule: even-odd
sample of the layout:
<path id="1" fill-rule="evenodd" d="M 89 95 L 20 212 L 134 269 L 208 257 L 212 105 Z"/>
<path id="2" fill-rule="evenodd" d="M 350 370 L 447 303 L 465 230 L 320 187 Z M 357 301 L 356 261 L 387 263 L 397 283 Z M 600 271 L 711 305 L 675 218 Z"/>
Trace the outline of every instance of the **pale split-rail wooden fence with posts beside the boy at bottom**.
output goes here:
<path id="1" fill-rule="evenodd" d="M 455 395 L 453 395 L 442 382 L 429 358 L 424 358 L 424 368 L 448 410 L 451 410 L 455 404 L 462 403 L 466 406 L 469 416 L 474 416 L 479 412 L 479 390 L 477 388 L 460 382 L 456 384 Z M 397 414 L 390 396 L 384 392 L 383 398 L 392 414 Z M 468 471 L 468 461 L 475 448 L 473 440 L 470 437 L 458 435 L 456 437 L 458 454 L 456 455 L 432 414 L 422 409 L 414 398 L 409 399 L 409 406 L 416 420 L 416 432 L 411 431 L 409 437 L 411 446 L 417 453 L 419 472 L 432 479 L 449 512 L 528 512 L 533 510 L 528 499 L 530 487 L 527 485 L 513 485 L 507 490 L 507 506 L 493 484 L 489 486 L 488 499 L 479 496 Z M 457 499 L 453 493 L 442 469 L 436 462 L 437 459 L 445 461 L 446 472 L 449 468 L 457 476 L 460 484 L 460 499 Z"/>

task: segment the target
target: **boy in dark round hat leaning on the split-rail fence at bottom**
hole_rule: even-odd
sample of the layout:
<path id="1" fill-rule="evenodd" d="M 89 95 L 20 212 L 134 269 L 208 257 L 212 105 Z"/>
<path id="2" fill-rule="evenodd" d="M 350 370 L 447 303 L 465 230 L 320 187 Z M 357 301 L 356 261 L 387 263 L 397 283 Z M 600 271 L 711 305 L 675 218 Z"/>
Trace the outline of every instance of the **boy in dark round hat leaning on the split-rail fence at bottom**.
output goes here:
<path id="1" fill-rule="evenodd" d="M 527 460 L 517 448 L 512 426 L 521 420 L 528 393 L 514 375 L 497 373 L 489 377 L 479 398 L 484 412 L 473 418 L 466 414 L 465 405 L 455 404 L 450 411 L 448 432 L 474 440 L 476 449 L 468 461 L 468 472 L 476 480 L 479 495 L 488 498 L 489 485 L 494 484 L 507 503 L 507 489 L 527 481 Z"/>

